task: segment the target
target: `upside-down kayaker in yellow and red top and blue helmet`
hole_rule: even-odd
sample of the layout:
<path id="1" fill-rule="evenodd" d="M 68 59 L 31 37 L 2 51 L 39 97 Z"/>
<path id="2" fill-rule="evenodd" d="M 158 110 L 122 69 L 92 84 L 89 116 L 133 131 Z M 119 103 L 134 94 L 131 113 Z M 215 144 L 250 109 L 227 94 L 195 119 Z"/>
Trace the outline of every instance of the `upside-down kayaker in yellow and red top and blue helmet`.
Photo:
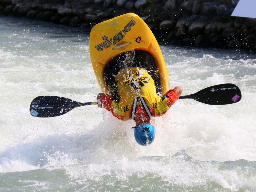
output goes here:
<path id="1" fill-rule="evenodd" d="M 156 93 L 155 82 L 145 68 L 121 69 L 116 78 L 119 100 L 106 93 L 97 96 L 98 107 L 104 107 L 118 119 L 135 121 L 134 137 L 140 145 L 149 145 L 155 138 L 151 117 L 163 115 L 179 99 L 182 87 L 177 86 L 162 97 Z"/>

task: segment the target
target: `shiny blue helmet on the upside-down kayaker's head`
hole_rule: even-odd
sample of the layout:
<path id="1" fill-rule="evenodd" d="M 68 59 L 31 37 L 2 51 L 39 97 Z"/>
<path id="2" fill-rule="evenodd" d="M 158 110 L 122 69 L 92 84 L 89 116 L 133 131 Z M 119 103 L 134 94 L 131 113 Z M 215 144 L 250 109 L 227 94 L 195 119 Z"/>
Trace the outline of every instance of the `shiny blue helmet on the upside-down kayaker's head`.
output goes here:
<path id="1" fill-rule="evenodd" d="M 140 124 L 134 128 L 134 137 L 140 145 L 149 145 L 155 139 L 155 128 L 150 124 Z"/>

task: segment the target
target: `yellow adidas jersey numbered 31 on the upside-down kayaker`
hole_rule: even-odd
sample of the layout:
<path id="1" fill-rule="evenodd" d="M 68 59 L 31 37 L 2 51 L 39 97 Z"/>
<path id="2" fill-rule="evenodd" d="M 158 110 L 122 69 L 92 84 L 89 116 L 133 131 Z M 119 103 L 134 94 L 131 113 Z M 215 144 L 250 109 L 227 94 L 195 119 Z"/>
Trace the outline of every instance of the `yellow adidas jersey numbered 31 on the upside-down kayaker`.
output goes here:
<path id="1" fill-rule="evenodd" d="M 120 101 L 112 102 L 113 112 L 123 115 L 124 121 L 130 119 L 130 109 L 138 97 L 144 98 L 146 105 L 154 109 L 155 113 L 152 116 L 157 116 L 169 109 L 167 98 L 162 100 L 162 97 L 157 95 L 155 82 L 145 68 L 121 69 L 116 76 L 116 82 Z M 137 100 L 136 104 L 138 104 Z"/>

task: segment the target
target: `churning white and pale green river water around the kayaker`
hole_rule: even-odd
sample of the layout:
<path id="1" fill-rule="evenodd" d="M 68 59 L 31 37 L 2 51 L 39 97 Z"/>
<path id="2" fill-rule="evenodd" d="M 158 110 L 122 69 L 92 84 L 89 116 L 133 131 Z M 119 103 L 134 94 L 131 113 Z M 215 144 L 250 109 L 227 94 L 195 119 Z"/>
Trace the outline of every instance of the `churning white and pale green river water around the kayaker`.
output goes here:
<path id="1" fill-rule="evenodd" d="M 183 95 L 236 84 L 242 100 L 178 100 L 139 146 L 132 121 L 84 106 L 52 118 L 29 114 L 40 95 L 95 101 L 89 33 L 0 17 L 1 191 L 256 191 L 256 55 L 162 45 Z"/>

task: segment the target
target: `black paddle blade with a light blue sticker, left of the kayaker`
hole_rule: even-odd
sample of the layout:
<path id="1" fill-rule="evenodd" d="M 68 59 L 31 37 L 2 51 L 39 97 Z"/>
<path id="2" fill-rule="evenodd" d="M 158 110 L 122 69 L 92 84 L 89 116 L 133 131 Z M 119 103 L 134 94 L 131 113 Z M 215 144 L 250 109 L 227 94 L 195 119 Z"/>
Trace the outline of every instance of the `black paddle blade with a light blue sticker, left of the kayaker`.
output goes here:
<path id="1" fill-rule="evenodd" d="M 82 103 L 64 97 L 39 96 L 30 104 L 30 114 L 35 117 L 55 117 L 68 113 Z"/>

